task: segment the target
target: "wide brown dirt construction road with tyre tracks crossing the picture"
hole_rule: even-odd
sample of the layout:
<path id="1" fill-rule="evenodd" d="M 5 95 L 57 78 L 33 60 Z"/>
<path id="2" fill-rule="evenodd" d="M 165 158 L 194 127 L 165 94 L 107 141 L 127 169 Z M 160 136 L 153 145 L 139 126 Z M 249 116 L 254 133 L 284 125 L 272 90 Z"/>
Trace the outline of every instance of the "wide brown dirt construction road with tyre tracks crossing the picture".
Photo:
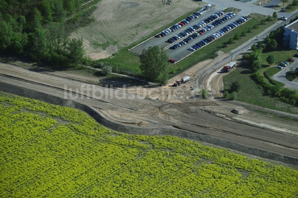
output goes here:
<path id="1" fill-rule="evenodd" d="M 192 99 L 181 103 L 146 100 L 144 95 L 124 89 L 87 85 L 82 81 L 5 63 L 0 63 L 0 82 L 92 106 L 113 122 L 127 125 L 141 122 L 143 127 L 179 128 L 298 158 L 297 135 L 257 128 L 201 111 L 204 106 L 220 108 L 213 100 L 202 102 Z M 76 92 L 77 96 L 69 95 L 70 91 Z M 171 97 L 179 98 L 179 95 Z"/>

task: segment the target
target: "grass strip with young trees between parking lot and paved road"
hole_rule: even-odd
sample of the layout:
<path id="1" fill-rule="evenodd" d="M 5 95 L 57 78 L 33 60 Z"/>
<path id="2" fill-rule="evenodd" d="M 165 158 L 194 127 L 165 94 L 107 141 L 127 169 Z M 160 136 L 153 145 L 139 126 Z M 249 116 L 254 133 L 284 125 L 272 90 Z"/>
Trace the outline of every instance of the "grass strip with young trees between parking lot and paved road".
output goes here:
<path id="1" fill-rule="evenodd" d="M 196 51 L 192 55 L 188 56 L 187 58 L 181 60 L 180 62 L 170 65 L 169 71 L 174 71 L 175 74 L 181 73 L 184 70 L 192 67 L 193 65 L 197 64 L 198 62 L 201 62 L 203 60 L 215 58 L 217 55 L 215 52 L 221 50 L 223 52 L 229 52 L 232 49 L 237 48 L 238 46 L 242 45 L 252 37 L 256 36 L 257 34 L 260 34 L 264 29 L 271 26 L 275 21 L 271 21 L 269 23 L 266 23 L 266 25 L 260 26 L 260 20 L 265 19 L 266 16 L 259 15 L 259 14 L 251 14 L 249 15 L 252 17 L 249 21 L 244 23 L 243 25 L 236 27 L 231 32 L 228 32 L 218 38 L 215 42 L 212 42 L 211 44 L 205 46 L 203 49 Z M 233 38 L 235 34 L 240 34 L 243 32 L 244 29 L 247 29 L 248 27 L 252 27 L 253 25 L 259 25 L 258 29 L 252 30 L 251 33 L 247 34 L 246 37 L 241 37 L 240 40 L 233 43 L 232 45 L 227 45 L 226 42 L 229 40 L 229 38 Z M 171 74 L 170 77 L 174 76 L 174 74 Z"/>

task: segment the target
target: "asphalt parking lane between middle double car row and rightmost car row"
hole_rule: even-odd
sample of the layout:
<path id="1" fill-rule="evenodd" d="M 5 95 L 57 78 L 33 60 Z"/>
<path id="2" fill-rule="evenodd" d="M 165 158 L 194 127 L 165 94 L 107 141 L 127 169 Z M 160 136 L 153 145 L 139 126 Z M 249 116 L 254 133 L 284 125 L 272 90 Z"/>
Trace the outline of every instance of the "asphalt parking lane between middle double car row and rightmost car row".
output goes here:
<path id="1" fill-rule="evenodd" d="M 199 35 L 195 39 L 192 39 L 189 43 L 186 43 L 185 45 L 182 45 L 181 47 L 179 47 L 177 49 L 170 49 L 170 48 L 166 49 L 166 52 L 169 55 L 169 58 L 170 59 L 175 59 L 176 61 L 179 61 L 180 59 L 182 59 L 185 56 L 189 55 L 193 51 L 187 50 L 188 48 L 195 45 L 195 43 L 198 43 L 199 41 L 209 37 L 211 34 L 217 33 L 218 30 L 222 29 L 224 26 L 227 26 L 230 23 L 233 23 L 233 22 L 237 21 L 242 16 L 242 15 L 240 15 L 240 13 L 236 14 L 235 16 L 231 17 L 230 19 L 224 21 L 220 25 L 215 26 L 214 28 L 210 29 L 209 31 L 204 32 L 203 34 Z M 229 32 L 233 31 L 233 29 L 231 29 Z M 226 32 L 226 33 L 228 33 L 228 32 Z M 204 48 L 203 49 L 198 49 L 196 51 L 200 51 L 200 50 L 204 50 Z"/>

